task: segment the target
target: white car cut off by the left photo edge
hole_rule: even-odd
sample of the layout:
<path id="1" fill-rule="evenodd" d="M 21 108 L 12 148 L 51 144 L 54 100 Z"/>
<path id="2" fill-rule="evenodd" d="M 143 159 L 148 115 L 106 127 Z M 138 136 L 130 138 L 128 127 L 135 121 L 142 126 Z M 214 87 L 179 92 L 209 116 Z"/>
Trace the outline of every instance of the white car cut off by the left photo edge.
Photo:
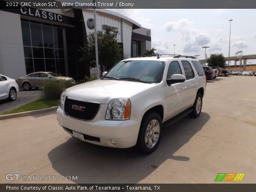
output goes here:
<path id="1" fill-rule="evenodd" d="M 19 87 L 14 79 L 0 74 L 0 100 L 9 99 L 14 101 L 17 98 L 18 91 Z"/>

